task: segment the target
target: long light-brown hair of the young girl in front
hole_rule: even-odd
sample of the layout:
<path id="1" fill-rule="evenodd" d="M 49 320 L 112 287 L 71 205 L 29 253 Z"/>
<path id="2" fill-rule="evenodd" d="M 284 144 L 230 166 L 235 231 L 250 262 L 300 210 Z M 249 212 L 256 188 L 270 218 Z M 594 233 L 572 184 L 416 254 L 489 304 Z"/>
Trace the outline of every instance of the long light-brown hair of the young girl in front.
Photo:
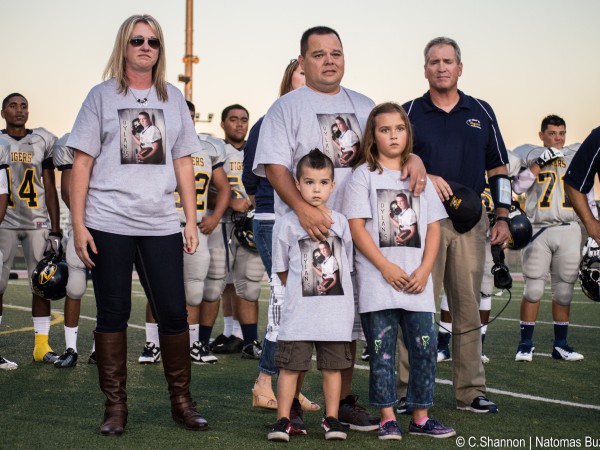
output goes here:
<path id="1" fill-rule="evenodd" d="M 402 152 L 401 156 L 402 165 L 408 161 L 408 158 L 412 153 L 413 146 L 413 133 L 408 114 L 406 114 L 404 108 L 402 108 L 402 106 L 399 104 L 394 102 L 386 102 L 377 105 L 369 114 L 367 126 L 365 127 L 365 134 L 358 150 L 356 161 L 352 166 L 353 168 L 357 168 L 361 164 L 367 163 L 367 167 L 371 172 L 374 172 L 376 169 L 379 173 L 383 171 L 383 167 L 381 167 L 381 164 L 379 164 L 379 161 L 377 160 L 379 150 L 377 149 L 377 144 L 375 143 L 375 118 L 380 114 L 387 113 L 400 114 L 400 117 L 406 125 L 406 148 Z"/>

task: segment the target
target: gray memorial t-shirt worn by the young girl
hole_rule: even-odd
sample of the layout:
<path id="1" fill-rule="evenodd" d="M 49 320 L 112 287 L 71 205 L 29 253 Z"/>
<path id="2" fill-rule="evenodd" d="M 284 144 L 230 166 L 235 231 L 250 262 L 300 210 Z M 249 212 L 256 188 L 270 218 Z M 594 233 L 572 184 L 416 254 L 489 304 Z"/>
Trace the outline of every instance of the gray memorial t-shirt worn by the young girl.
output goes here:
<path id="1" fill-rule="evenodd" d="M 413 196 L 408 186 L 409 180 L 401 181 L 399 171 L 384 168 L 379 174 L 363 164 L 345 185 L 342 212 L 348 220 L 367 219 L 365 228 L 383 256 L 410 275 L 423 259 L 427 224 L 448 215 L 431 181 L 419 197 Z M 411 226 L 414 234 L 405 240 Z M 398 308 L 435 312 L 431 275 L 422 293 L 398 292 L 358 248 L 354 269 L 360 313 Z"/>

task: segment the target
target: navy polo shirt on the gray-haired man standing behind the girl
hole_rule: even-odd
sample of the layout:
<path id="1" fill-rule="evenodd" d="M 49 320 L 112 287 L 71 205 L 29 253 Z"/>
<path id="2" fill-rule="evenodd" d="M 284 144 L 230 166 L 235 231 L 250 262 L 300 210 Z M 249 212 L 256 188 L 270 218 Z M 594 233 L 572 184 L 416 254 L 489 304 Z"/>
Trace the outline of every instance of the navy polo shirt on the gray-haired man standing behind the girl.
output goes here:
<path id="1" fill-rule="evenodd" d="M 433 104 L 429 92 L 403 107 L 413 127 L 413 151 L 427 173 L 481 195 L 485 172 L 508 164 L 508 155 L 490 105 L 458 93 L 460 100 L 449 113 Z"/>

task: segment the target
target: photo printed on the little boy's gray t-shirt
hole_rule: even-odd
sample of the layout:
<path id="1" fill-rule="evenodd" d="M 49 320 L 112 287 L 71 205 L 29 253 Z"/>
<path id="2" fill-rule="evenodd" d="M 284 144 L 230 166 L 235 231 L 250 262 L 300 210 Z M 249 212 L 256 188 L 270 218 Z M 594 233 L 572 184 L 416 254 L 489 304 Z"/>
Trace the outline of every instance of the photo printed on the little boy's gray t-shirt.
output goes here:
<path id="1" fill-rule="evenodd" d="M 315 242 L 310 238 L 300 239 L 302 263 L 302 296 L 344 295 L 342 288 L 342 240 L 331 236 L 325 241 Z"/>

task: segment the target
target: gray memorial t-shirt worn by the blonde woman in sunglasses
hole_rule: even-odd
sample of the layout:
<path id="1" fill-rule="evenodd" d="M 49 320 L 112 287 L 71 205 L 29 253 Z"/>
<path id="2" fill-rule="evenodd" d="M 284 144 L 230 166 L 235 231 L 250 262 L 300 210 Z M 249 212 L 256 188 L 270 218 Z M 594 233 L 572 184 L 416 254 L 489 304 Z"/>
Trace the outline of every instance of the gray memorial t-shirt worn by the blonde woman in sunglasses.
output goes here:
<path id="1" fill-rule="evenodd" d="M 130 236 L 164 236 L 180 231 L 173 201 L 173 160 L 201 151 L 181 92 L 168 84 L 168 102 L 156 91 L 141 105 L 127 92 L 117 92 L 114 79 L 90 91 L 79 111 L 69 147 L 94 157 L 85 205 L 85 225 Z M 150 127 L 160 131 L 156 152 L 134 139 Z M 156 134 L 158 136 L 158 134 Z"/>

